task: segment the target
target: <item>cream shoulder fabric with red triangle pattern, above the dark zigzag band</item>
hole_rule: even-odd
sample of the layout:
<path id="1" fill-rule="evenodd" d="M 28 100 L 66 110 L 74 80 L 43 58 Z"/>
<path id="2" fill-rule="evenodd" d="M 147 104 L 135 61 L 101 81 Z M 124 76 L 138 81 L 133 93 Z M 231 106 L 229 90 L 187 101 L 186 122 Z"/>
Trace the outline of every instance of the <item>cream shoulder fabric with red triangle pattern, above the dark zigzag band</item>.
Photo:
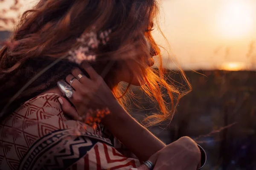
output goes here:
<path id="1" fill-rule="evenodd" d="M 43 136 L 66 129 L 57 94 L 44 94 L 23 103 L 0 122 L 0 169 L 17 169 L 20 159 Z"/>

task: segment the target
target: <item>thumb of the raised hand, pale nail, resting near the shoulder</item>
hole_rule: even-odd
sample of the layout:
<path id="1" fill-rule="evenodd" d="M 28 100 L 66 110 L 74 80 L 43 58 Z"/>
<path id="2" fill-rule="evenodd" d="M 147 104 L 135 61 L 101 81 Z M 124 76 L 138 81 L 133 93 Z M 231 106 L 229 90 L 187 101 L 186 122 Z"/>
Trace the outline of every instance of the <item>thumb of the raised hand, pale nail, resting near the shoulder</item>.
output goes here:
<path id="1" fill-rule="evenodd" d="M 62 110 L 65 114 L 75 120 L 81 121 L 81 117 L 77 113 L 76 108 L 73 107 L 67 99 L 65 99 L 64 97 L 59 97 L 58 101 L 61 103 Z"/>

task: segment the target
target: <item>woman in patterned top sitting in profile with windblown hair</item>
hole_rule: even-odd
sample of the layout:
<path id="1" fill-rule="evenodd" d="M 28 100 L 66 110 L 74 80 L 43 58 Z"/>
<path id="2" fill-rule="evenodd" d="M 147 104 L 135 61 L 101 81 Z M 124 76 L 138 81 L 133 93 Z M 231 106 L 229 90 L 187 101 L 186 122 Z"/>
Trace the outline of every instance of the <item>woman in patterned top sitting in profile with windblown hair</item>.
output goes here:
<path id="1" fill-rule="evenodd" d="M 159 103 L 161 114 L 149 116 L 149 125 L 171 119 L 175 99 L 183 95 L 167 84 L 161 67 L 150 68 L 152 56 L 159 54 L 150 33 L 156 14 L 155 0 L 41 0 L 27 11 L 11 39 L 15 48 L 0 51 L 0 169 L 199 167 L 195 142 L 184 137 L 166 146 L 124 109 L 121 81 L 141 85 Z M 81 35 L 95 38 L 101 32 L 106 36 L 101 43 L 84 47 L 96 59 L 79 60 L 85 57 L 78 50 Z M 65 94 L 69 101 L 57 87 L 64 79 L 72 86 Z M 162 86 L 172 99 L 170 109 Z M 96 109 L 110 111 L 104 126 L 84 123 Z"/>

